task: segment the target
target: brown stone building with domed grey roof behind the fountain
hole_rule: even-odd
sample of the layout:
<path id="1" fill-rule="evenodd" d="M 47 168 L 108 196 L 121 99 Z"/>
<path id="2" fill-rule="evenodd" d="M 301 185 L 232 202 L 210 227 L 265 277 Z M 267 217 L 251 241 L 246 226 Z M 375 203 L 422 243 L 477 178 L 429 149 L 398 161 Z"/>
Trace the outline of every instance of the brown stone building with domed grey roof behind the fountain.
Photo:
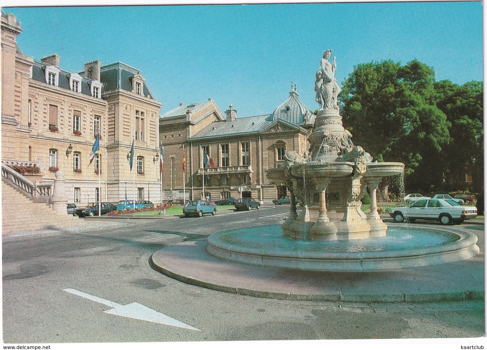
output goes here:
<path id="1" fill-rule="evenodd" d="M 288 151 L 300 155 L 308 151 L 315 116 L 298 96 L 293 86 L 289 98 L 273 113 L 252 117 L 236 118 L 231 105 L 224 117 L 211 99 L 163 113 L 159 134 L 164 145 L 165 197 L 183 198 L 183 187 L 191 199 L 202 198 L 203 188 L 210 200 L 242 196 L 269 202 L 285 196 L 286 187 L 269 183 L 265 170 L 281 166 Z M 204 164 L 204 152 L 213 167 Z"/>

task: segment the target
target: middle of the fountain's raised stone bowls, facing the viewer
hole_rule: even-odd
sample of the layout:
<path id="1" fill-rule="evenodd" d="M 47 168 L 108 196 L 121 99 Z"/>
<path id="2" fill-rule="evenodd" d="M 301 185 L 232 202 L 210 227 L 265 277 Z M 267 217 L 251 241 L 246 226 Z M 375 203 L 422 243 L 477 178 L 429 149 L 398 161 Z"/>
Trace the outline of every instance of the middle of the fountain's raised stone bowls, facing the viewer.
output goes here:
<path id="1" fill-rule="evenodd" d="M 290 168 L 291 174 L 297 178 L 303 177 L 303 169 L 305 176 L 309 178 L 345 177 L 351 175 L 354 171 L 354 163 L 311 161 L 304 164 L 296 164 L 290 166 Z"/>

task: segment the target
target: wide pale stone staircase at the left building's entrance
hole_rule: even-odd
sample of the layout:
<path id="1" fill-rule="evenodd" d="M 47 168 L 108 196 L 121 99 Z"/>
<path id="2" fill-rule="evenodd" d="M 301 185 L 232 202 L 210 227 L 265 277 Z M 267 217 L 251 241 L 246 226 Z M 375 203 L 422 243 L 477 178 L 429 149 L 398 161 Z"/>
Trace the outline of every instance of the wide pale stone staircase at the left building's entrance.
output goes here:
<path id="1" fill-rule="evenodd" d="M 84 219 L 59 214 L 44 203 L 34 203 L 2 178 L 2 234 L 85 226 Z"/>

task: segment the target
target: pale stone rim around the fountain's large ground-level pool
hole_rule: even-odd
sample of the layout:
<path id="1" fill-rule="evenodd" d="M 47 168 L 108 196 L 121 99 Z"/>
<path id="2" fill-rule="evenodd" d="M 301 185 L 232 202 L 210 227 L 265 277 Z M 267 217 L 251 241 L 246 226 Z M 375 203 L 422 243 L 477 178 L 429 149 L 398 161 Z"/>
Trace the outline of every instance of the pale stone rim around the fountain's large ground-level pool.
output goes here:
<path id="1" fill-rule="evenodd" d="M 274 227 L 273 227 L 274 226 Z M 265 230 L 270 232 L 279 230 L 279 225 L 258 226 L 247 230 Z M 390 225 L 404 228 L 404 225 Z M 415 225 L 409 225 L 414 229 Z M 407 229 L 407 227 L 405 228 Z M 231 236 L 235 231 L 235 236 Z M 296 250 L 295 247 L 282 248 L 271 239 L 264 243 L 256 236 L 255 241 L 259 248 L 252 247 L 252 241 L 242 241 L 237 234 L 238 230 L 220 232 L 208 237 L 207 251 L 209 254 L 226 260 L 243 262 L 251 265 L 281 267 L 309 271 L 389 271 L 418 266 L 436 265 L 471 258 L 479 253 L 477 236 L 459 229 L 431 228 L 428 231 L 438 235 L 449 235 L 455 239 L 445 244 L 424 246 L 420 248 L 393 249 L 381 251 L 314 251 Z M 230 236 L 228 236 L 230 235 Z M 230 241 L 228 240 L 230 237 Z M 277 233 L 276 241 L 280 240 Z M 233 239 L 235 238 L 235 239 Z M 451 239 L 450 239 L 451 240 Z M 292 244 L 292 243 L 291 243 Z M 301 244 L 300 242 L 297 243 Z M 321 244 L 315 242 L 313 244 Z M 330 244 L 323 242 L 322 244 Z M 354 241 L 357 244 L 357 240 Z"/>

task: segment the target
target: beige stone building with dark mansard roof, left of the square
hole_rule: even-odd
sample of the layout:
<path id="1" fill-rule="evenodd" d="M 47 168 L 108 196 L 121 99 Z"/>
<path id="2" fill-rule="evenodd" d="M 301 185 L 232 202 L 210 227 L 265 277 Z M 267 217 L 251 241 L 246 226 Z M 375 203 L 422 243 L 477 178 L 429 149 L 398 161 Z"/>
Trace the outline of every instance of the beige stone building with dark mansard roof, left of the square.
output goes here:
<path id="1" fill-rule="evenodd" d="M 40 61 L 24 55 L 16 40 L 21 32 L 15 16 L 2 11 L 2 164 L 35 166 L 38 172 L 26 176 L 47 184 L 62 170 L 68 202 L 80 205 L 99 195 L 114 203 L 134 195 L 160 202 L 155 158 L 161 104 L 141 72 L 98 60 L 82 72 L 68 72 L 56 54 Z M 90 165 L 98 133 L 100 152 Z M 127 161 L 133 139 L 135 174 Z"/>

